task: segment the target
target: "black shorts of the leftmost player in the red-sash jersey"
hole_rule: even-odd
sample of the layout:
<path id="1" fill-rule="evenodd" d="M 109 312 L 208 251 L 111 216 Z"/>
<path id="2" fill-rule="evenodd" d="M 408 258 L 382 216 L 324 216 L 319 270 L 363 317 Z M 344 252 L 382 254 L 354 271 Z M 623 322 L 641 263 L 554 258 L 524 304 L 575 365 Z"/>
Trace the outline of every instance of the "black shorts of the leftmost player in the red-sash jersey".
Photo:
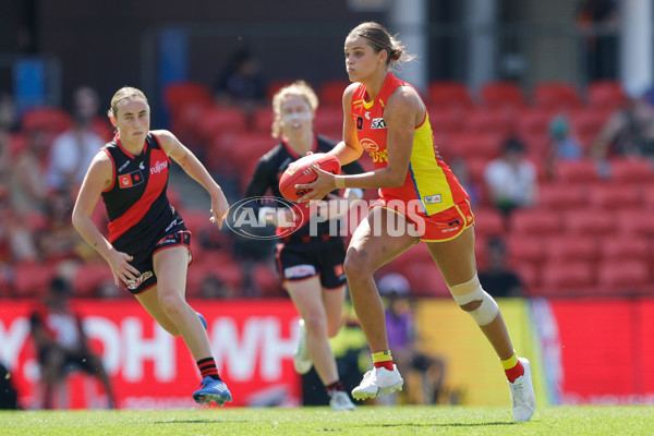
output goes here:
<path id="1" fill-rule="evenodd" d="M 157 242 L 154 244 L 145 242 L 144 245 L 142 245 L 142 249 L 136 252 L 128 252 L 129 255 L 134 257 L 132 262 L 130 262 L 130 265 L 141 272 L 141 277 L 126 284 L 128 291 L 136 295 L 157 284 L 153 256 L 160 250 L 178 245 L 184 245 L 189 249 L 189 264 L 191 264 L 193 258 L 191 255 L 191 232 L 186 230 L 186 226 L 179 215 L 177 215 L 177 218 L 159 234 Z"/>

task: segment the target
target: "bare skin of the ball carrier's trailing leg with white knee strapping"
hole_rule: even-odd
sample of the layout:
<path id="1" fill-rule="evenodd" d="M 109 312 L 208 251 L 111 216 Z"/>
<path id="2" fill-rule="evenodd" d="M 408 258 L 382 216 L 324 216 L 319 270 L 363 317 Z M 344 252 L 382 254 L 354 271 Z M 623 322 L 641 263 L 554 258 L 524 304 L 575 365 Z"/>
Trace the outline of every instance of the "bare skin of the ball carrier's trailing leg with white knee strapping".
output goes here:
<path id="1" fill-rule="evenodd" d="M 473 227 L 463 230 L 463 233 L 458 238 L 450 241 L 427 243 L 427 246 L 449 287 L 464 283 L 476 275 Z M 477 308 L 481 303 L 481 301 L 472 301 L 462 305 L 461 308 L 471 312 Z M 506 360 L 513 354 L 513 346 L 501 313 L 498 313 L 497 317 L 489 324 L 480 326 L 480 328 L 488 338 L 499 359 Z"/>

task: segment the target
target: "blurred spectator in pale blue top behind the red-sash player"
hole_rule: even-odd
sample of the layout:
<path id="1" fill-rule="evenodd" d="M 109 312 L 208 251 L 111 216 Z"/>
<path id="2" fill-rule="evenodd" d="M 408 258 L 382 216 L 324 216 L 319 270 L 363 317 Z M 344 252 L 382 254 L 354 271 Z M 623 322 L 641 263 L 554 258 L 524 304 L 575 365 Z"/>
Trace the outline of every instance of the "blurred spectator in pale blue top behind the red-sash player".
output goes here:
<path id="1" fill-rule="evenodd" d="M 82 184 L 93 157 L 105 145 L 94 131 L 100 101 L 96 92 L 83 86 L 73 94 L 73 128 L 57 136 L 50 152 L 46 183 L 52 190 L 74 191 Z"/>

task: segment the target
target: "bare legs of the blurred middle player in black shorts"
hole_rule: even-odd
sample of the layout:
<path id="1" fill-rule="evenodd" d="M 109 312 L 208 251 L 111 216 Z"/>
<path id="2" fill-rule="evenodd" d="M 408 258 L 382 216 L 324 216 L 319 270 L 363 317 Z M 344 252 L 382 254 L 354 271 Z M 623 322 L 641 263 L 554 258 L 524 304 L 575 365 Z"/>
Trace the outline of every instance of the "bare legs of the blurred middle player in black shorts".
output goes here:
<path id="1" fill-rule="evenodd" d="M 320 380 L 323 380 L 323 384 L 328 386 L 339 379 L 329 338 L 336 336 L 340 328 L 344 287 L 340 291 L 331 291 L 336 295 L 328 296 L 328 299 L 334 300 L 336 304 L 330 301 L 329 307 L 323 302 L 323 288 L 320 287 L 318 277 L 287 281 L 284 287 L 300 316 L 304 319 L 306 348 L 308 349 L 308 355 L 316 368 L 316 373 L 320 377 Z M 339 315 L 338 318 L 335 315 Z"/>

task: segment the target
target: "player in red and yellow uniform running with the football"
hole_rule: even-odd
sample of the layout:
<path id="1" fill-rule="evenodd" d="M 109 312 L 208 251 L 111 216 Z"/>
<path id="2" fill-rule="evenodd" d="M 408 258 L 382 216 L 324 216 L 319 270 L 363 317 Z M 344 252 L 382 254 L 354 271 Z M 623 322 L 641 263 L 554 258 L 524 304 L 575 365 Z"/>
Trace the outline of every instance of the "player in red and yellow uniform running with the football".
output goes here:
<path id="1" fill-rule="evenodd" d="M 347 164 L 366 150 L 375 170 L 335 177 L 314 167 L 316 182 L 299 187 L 313 190 L 302 202 L 319 199 L 335 187 L 379 187 L 379 199 L 355 230 L 344 264 L 352 302 L 374 361 L 353 397 L 372 398 L 402 387 L 388 349 L 373 274 L 424 241 L 452 296 L 499 356 L 511 389 L 513 420 L 530 420 L 535 409 L 530 363 L 516 355 L 497 303 L 477 279 L 474 218 L 468 194 L 436 152 L 419 94 L 390 72 L 411 57 L 376 23 L 362 23 L 352 29 L 344 55 L 353 83 L 343 94 L 343 142 L 330 153 Z M 391 235 L 389 228 L 404 232 Z"/>

